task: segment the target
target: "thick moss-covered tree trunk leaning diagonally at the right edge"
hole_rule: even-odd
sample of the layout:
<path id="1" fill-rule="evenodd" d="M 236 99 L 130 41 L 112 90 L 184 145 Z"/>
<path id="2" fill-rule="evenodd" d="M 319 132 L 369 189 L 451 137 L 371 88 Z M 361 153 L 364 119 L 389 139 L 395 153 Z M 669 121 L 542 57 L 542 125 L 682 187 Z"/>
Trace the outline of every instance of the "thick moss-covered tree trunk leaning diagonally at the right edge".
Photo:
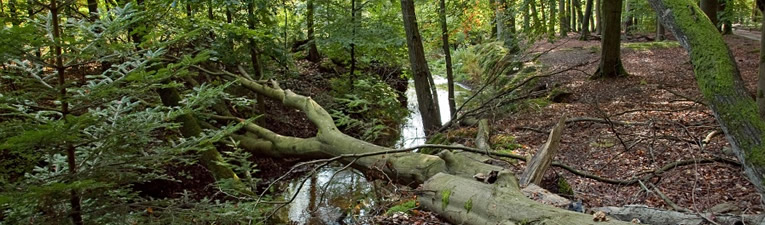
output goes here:
<path id="1" fill-rule="evenodd" d="M 744 172 L 765 193 L 765 121 L 749 96 L 733 54 L 702 11 L 688 0 L 649 0 L 686 50 L 696 81 L 725 136 L 744 165 Z M 763 198 L 765 200 L 765 198 Z"/>

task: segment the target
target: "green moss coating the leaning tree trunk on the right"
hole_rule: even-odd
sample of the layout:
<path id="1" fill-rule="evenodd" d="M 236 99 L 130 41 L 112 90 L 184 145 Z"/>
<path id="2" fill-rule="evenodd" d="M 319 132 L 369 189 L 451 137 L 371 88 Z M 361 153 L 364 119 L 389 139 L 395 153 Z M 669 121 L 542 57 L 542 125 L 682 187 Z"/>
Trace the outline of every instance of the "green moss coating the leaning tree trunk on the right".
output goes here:
<path id="1" fill-rule="evenodd" d="M 746 151 L 747 162 L 755 167 L 765 166 L 765 145 L 759 140 L 765 136 L 760 133 L 758 138 L 747 138 L 752 131 L 738 129 L 741 124 L 749 124 L 756 131 L 765 131 L 765 122 L 759 119 L 754 100 L 751 98 L 731 99 L 740 91 L 736 85 L 737 68 L 726 43 L 714 25 L 706 20 L 705 14 L 691 1 L 664 0 L 664 5 L 673 12 L 675 24 L 687 38 L 688 51 L 694 65 L 694 73 L 705 99 L 712 103 L 719 116 L 719 121 L 728 123 L 726 126 L 732 135 L 741 138 L 740 148 Z M 682 35 L 681 35 L 682 37 Z M 729 104 L 737 102 L 737 104 Z"/>

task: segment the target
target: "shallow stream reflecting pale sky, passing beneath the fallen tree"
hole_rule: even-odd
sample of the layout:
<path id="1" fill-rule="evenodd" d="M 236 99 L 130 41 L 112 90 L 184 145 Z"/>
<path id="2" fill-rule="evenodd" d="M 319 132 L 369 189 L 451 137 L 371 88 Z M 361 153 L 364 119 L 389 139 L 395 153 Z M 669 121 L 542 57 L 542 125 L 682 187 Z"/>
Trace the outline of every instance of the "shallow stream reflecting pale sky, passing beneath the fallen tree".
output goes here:
<path id="1" fill-rule="evenodd" d="M 446 124 L 451 118 L 447 80 L 433 76 L 433 81 L 438 91 L 441 122 Z M 456 84 L 454 95 L 459 99 L 467 91 L 467 86 Z M 413 81 L 409 81 L 406 97 L 409 103 L 407 108 L 411 113 L 401 125 L 401 137 L 395 145 L 397 148 L 425 143 L 425 130 Z M 295 225 L 371 224 L 369 217 L 373 214 L 370 210 L 376 204 L 374 187 L 361 172 L 341 169 L 341 166 L 325 167 L 307 180 L 295 179 L 289 183 L 282 199 L 289 200 L 298 192 L 292 203 L 278 213 L 277 221 Z"/>

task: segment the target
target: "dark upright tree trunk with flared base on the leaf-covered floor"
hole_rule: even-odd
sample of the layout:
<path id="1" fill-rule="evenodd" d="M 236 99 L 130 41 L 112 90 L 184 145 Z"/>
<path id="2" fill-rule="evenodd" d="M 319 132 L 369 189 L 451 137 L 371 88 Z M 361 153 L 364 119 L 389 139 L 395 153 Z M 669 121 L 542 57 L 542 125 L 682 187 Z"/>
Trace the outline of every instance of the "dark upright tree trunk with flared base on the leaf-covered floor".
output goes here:
<path id="1" fill-rule="evenodd" d="M 627 76 L 621 59 L 622 0 L 603 1 L 603 41 L 601 41 L 600 65 L 592 78 Z"/>

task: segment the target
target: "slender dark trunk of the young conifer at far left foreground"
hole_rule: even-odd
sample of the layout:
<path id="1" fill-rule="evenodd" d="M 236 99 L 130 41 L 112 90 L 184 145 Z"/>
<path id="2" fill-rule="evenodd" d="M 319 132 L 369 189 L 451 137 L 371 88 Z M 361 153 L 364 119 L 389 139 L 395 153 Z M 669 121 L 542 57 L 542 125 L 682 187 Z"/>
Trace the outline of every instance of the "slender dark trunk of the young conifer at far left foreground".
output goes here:
<path id="1" fill-rule="evenodd" d="M 58 88 L 59 88 L 59 101 L 61 101 L 61 114 L 64 121 L 67 120 L 69 115 L 69 102 L 66 100 L 66 67 L 64 67 L 63 50 L 61 49 L 61 26 L 59 25 L 59 8 L 58 0 L 51 0 L 48 8 L 51 14 L 51 23 L 53 24 L 53 53 L 55 54 L 56 73 L 58 74 Z M 66 144 L 66 161 L 71 176 L 77 175 L 77 155 L 75 154 L 75 147 L 72 144 Z M 69 204 L 72 207 L 72 211 L 69 216 L 72 219 L 72 223 L 76 225 L 82 225 L 82 205 L 79 191 L 72 189 L 69 192 Z"/>

